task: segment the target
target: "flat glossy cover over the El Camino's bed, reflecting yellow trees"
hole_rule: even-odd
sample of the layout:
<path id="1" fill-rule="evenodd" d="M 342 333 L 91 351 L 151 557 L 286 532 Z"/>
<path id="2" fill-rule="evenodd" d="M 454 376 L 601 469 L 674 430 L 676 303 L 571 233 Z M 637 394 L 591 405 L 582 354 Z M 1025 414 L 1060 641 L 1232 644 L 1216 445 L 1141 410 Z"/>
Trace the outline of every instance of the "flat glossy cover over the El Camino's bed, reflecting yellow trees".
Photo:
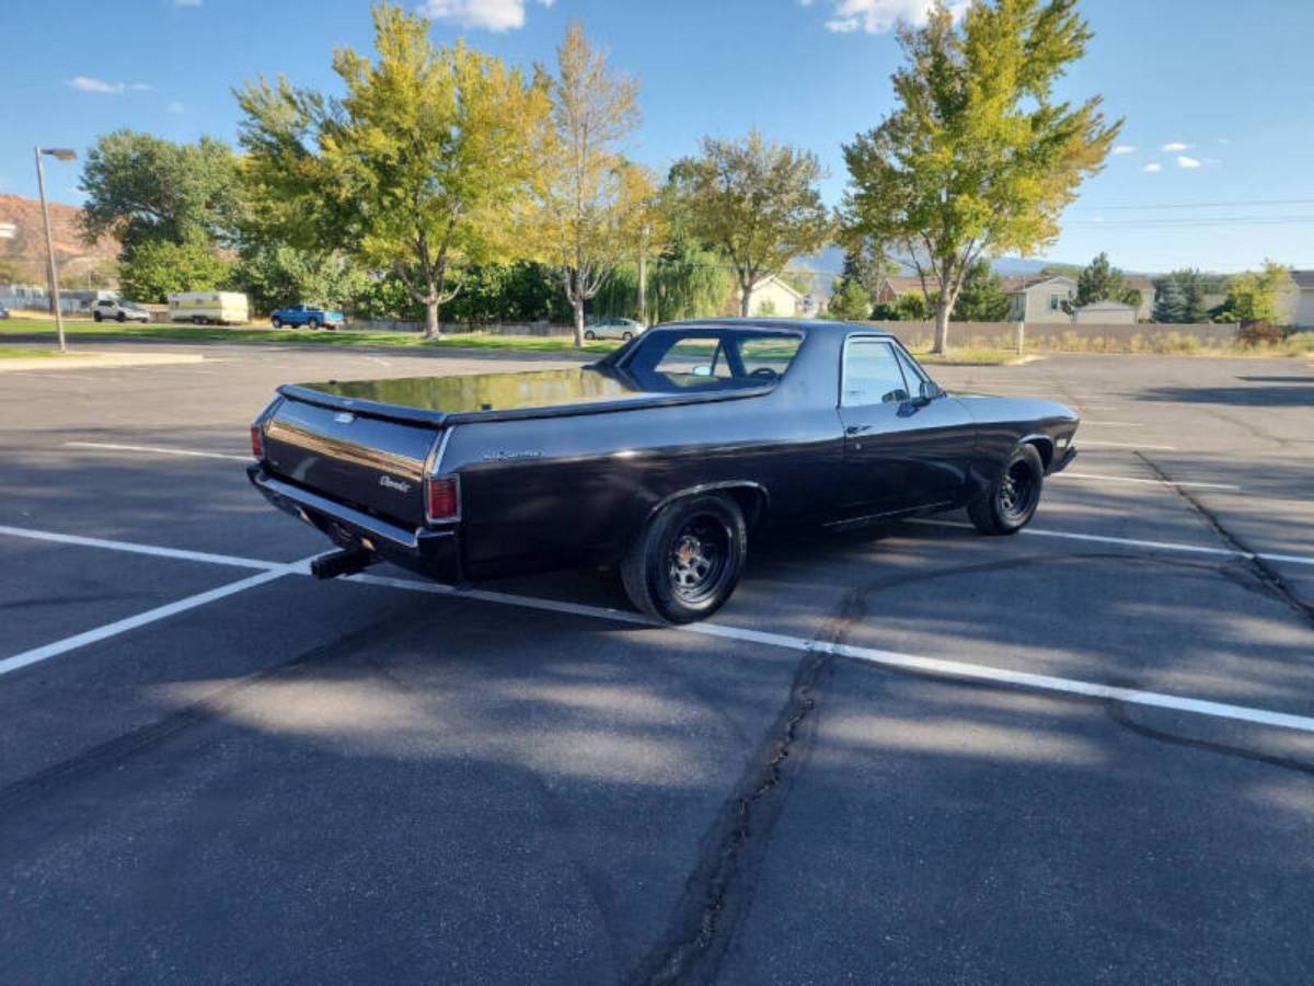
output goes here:
<path id="1" fill-rule="evenodd" d="M 443 427 L 470 421 L 547 418 L 636 408 L 738 400 L 774 384 L 694 375 L 637 380 L 614 368 L 579 367 L 527 373 L 330 380 L 288 384 L 293 401 L 372 418 Z"/>

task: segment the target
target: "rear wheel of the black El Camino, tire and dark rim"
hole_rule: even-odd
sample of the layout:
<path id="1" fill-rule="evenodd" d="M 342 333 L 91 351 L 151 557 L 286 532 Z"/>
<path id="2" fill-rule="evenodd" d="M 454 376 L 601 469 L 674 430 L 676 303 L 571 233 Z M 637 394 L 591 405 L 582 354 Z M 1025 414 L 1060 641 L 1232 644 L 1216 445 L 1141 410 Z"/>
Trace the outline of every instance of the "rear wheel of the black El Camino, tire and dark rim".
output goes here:
<path id="1" fill-rule="evenodd" d="M 668 623 L 706 619 L 744 575 L 748 527 L 725 496 L 692 496 L 664 506 L 620 565 L 629 601 Z"/>

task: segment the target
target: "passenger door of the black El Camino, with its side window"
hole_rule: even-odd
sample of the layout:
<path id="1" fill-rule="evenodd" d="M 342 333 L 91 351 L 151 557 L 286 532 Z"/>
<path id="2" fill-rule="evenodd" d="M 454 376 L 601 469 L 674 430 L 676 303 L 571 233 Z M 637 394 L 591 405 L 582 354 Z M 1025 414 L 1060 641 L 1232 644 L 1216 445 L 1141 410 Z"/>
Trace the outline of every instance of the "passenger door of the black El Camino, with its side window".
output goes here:
<path id="1" fill-rule="evenodd" d="M 971 417 L 888 337 L 853 335 L 844 348 L 844 507 L 879 515 L 954 501 L 967 482 Z"/>

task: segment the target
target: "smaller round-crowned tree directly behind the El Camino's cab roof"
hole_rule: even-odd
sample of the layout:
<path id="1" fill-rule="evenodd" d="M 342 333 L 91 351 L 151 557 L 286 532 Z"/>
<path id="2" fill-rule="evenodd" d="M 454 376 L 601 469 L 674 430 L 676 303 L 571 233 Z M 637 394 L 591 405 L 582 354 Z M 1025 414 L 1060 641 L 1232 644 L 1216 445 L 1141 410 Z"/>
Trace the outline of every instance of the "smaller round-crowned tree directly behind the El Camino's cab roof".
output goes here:
<path id="1" fill-rule="evenodd" d="M 673 171 L 691 233 L 729 260 L 746 317 L 758 284 L 834 237 L 817 191 L 825 171 L 811 151 L 767 141 L 756 129 L 737 141 L 704 137 L 702 151 Z"/>

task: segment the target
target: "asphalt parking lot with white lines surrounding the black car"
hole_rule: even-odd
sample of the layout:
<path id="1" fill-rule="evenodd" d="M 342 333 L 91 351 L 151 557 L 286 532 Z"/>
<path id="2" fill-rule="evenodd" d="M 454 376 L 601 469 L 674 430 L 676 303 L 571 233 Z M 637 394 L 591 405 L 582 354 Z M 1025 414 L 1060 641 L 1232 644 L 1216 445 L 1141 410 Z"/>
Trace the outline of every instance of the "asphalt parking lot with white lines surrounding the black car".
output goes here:
<path id="1" fill-rule="evenodd" d="M 1314 979 L 1310 360 L 936 368 L 1081 413 L 1030 531 L 670 628 L 315 582 L 246 481 L 279 383 L 560 360 L 204 352 L 0 373 L 0 981 Z"/>

